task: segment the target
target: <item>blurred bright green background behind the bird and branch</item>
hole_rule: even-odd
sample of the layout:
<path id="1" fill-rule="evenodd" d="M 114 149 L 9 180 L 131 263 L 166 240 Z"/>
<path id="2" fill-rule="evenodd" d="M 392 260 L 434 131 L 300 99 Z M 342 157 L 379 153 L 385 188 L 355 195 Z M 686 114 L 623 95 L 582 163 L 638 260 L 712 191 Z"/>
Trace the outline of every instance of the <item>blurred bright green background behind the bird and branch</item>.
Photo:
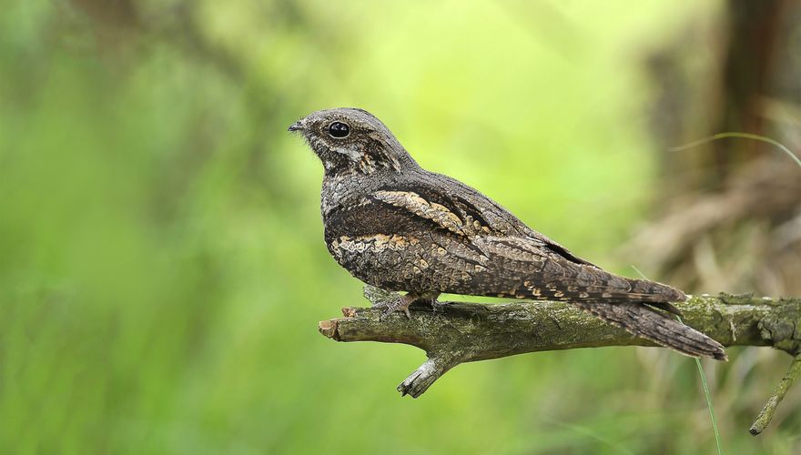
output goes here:
<path id="1" fill-rule="evenodd" d="M 322 241 L 322 167 L 286 128 L 368 109 L 423 167 L 631 276 L 640 258 L 613 252 L 663 191 L 645 55 L 724 4 L 2 9 L 3 453 L 715 450 L 695 363 L 664 349 L 462 365 L 401 399 L 420 350 L 317 332 L 366 301 Z M 714 43 L 683 52 L 703 66 Z M 746 431 L 787 359 L 731 352 L 705 364 L 724 449 L 798 450 L 792 392 Z"/>

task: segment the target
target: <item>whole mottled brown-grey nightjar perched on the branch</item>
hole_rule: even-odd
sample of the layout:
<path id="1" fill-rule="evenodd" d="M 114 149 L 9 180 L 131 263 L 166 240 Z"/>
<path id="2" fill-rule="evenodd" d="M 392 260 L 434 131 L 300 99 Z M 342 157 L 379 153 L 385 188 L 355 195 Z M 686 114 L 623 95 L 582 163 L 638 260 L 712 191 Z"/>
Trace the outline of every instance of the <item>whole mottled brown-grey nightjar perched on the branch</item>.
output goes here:
<path id="1" fill-rule="evenodd" d="M 330 255 L 394 296 L 381 318 L 442 293 L 573 304 L 690 357 L 723 346 L 674 319 L 681 290 L 625 278 L 579 258 L 490 197 L 422 168 L 376 116 L 323 109 L 289 126 L 324 167 L 320 211 Z"/>

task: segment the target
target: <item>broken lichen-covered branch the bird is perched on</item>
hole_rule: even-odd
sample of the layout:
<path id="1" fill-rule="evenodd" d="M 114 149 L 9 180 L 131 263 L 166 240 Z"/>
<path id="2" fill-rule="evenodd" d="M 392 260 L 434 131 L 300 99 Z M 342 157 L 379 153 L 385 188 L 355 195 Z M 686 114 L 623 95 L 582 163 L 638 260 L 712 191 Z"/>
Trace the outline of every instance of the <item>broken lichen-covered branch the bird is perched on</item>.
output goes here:
<path id="1" fill-rule="evenodd" d="M 375 289 L 365 295 L 375 301 Z M 755 298 L 751 295 L 696 296 L 679 304 L 684 323 L 724 346 L 771 346 L 796 357 L 801 353 L 801 298 Z M 411 320 L 394 313 L 380 320 L 375 308 L 342 308 L 344 318 L 324 320 L 319 332 L 337 341 L 403 343 L 423 349 L 428 360 L 400 383 L 402 395 L 421 396 L 449 369 L 464 362 L 498 359 L 543 350 L 603 346 L 655 346 L 561 302 L 488 305 L 439 303 L 413 305 Z M 763 430 L 786 389 L 798 375 L 793 362 L 766 410 L 752 427 Z M 771 405 L 771 403 L 773 403 Z"/>

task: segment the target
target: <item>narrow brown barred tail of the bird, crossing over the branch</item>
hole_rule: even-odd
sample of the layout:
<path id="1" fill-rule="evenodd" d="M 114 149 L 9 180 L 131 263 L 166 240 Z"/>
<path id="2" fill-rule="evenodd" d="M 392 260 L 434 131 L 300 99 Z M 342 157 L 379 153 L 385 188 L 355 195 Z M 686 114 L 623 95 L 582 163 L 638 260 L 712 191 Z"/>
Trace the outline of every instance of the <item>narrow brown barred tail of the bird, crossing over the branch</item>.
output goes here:
<path id="1" fill-rule="evenodd" d="M 728 360 L 723 346 L 689 326 L 639 302 L 571 303 L 629 333 L 685 356 Z"/>

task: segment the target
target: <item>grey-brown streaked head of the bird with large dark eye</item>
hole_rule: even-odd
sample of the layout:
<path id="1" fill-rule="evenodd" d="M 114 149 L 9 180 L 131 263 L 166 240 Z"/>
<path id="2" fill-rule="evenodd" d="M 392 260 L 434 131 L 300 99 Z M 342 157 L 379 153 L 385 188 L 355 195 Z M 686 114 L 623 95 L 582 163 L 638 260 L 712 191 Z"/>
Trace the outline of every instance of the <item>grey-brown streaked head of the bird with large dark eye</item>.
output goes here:
<path id="1" fill-rule="evenodd" d="M 362 109 L 339 107 L 312 112 L 289 126 L 289 131 L 306 138 L 327 174 L 400 172 L 416 166 L 390 129 Z"/>

